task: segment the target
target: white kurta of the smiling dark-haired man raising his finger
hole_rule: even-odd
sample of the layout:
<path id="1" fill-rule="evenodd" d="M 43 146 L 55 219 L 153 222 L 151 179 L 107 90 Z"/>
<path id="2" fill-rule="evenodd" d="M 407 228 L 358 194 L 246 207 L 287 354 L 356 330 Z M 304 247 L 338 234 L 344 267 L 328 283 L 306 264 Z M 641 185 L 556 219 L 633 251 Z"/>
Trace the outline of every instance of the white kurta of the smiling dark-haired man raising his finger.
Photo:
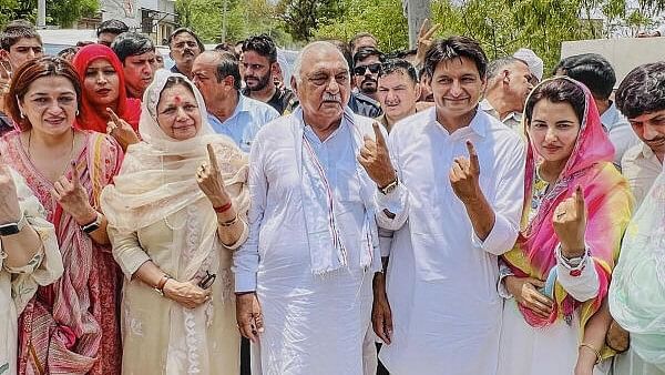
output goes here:
<path id="1" fill-rule="evenodd" d="M 453 159 L 468 158 L 467 140 L 478 151 L 480 185 L 497 215 L 484 242 L 449 182 Z M 524 143 L 483 111 L 449 134 L 432 108 L 396 126 L 389 148 L 401 188 L 377 194 L 379 209 L 396 213 L 393 220 L 377 215 L 379 226 L 398 230 L 387 275 L 393 337 L 379 358 L 393 375 L 494 375 L 503 305 L 498 255 L 518 235 Z"/>

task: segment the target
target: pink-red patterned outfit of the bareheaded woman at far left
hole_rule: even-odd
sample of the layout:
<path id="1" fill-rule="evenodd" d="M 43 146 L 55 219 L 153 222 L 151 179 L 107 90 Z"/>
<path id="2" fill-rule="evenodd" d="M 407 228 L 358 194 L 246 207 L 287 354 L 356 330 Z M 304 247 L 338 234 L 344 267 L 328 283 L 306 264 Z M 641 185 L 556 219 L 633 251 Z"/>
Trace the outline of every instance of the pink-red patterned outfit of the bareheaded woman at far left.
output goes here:
<path id="1" fill-rule="evenodd" d="M 0 141 L 0 154 L 21 173 L 57 231 L 64 274 L 41 286 L 19 321 L 19 374 L 120 374 L 120 271 L 109 246 L 92 242 L 51 196 L 52 184 L 23 152 L 20 133 Z M 86 132 L 76 169 L 91 204 L 120 170 L 122 150 Z M 71 171 L 68 172 L 68 175 Z"/>

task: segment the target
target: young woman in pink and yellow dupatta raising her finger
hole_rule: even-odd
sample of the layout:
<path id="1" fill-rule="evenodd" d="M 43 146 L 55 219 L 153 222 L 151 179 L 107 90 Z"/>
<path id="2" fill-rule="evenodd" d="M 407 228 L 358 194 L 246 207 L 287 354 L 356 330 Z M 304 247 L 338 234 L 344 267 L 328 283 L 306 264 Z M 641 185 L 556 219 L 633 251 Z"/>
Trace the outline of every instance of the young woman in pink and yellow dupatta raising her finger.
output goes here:
<path id="1" fill-rule="evenodd" d="M 632 195 L 582 83 L 543 81 L 524 119 L 526 199 L 515 246 L 502 256 L 498 374 L 573 374 L 579 356 L 593 358 L 592 374 L 611 352 L 584 328 L 607 295 Z"/>

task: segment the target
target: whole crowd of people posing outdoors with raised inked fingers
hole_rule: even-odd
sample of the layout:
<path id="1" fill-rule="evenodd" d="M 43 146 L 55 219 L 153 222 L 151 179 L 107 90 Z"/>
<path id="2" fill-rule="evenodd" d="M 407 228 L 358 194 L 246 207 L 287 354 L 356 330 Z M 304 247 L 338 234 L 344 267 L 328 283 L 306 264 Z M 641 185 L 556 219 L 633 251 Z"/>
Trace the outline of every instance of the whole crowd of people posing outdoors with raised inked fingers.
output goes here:
<path id="1" fill-rule="evenodd" d="M 7 24 L 0 374 L 665 374 L 665 62 L 437 30 Z"/>

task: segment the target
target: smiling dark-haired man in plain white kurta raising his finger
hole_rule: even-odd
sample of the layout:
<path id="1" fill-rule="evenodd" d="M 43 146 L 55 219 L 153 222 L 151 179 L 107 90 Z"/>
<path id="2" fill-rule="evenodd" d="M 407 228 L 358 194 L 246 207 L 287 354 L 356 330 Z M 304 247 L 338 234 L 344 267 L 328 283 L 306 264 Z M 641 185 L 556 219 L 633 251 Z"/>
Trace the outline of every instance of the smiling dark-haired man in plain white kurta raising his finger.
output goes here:
<path id="1" fill-rule="evenodd" d="M 497 372 L 498 255 L 518 235 L 524 145 L 478 110 L 484 61 L 472 40 L 437 42 L 426 60 L 437 105 L 390 133 L 399 183 L 377 201 L 379 226 L 397 230 L 387 272 L 392 331 L 389 322 L 375 331 L 390 342 L 379 358 L 395 375 Z"/>

